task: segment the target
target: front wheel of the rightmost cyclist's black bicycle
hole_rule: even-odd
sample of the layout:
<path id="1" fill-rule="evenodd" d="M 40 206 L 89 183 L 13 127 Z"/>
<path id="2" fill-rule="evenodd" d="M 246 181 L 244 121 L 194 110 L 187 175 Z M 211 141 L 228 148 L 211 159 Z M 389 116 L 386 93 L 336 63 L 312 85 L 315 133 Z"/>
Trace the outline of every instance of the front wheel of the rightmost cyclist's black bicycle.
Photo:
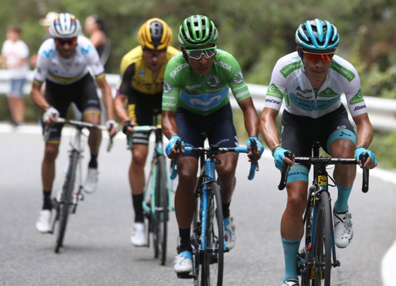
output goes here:
<path id="1" fill-rule="evenodd" d="M 315 237 L 315 280 L 313 285 L 330 286 L 332 271 L 332 232 L 331 232 L 331 206 L 328 193 L 320 193 L 317 205 L 316 237 Z"/>

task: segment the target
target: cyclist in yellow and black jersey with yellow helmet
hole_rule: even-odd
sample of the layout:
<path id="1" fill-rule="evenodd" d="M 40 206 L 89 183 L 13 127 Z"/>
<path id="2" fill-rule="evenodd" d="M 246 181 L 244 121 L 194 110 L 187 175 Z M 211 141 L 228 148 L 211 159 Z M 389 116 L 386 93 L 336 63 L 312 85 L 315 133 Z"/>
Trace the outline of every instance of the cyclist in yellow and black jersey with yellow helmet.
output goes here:
<path id="1" fill-rule="evenodd" d="M 135 132 L 133 127 L 153 125 L 153 116 L 161 112 L 164 70 L 168 61 L 179 51 L 170 46 L 171 28 L 158 18 L 149 19 L 140 27 L 138 40 L 140 46 L 122 58 L 121 80 L 114 104 L 118 117 L 124 123 L 123 132 L 133 136 L 129 183 L 135 224 L 130 242 L 134 246 L 145 246 L 147 238 L 142 201 L 149 134 Z"/>

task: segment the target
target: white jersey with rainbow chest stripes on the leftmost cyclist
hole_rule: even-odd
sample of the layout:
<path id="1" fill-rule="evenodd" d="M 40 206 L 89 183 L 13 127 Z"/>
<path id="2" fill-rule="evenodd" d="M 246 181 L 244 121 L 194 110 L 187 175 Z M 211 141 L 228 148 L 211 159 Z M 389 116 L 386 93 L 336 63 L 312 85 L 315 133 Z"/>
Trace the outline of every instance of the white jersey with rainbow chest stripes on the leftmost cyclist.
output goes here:
<path id="1" fill-rule="evenodd" d="M 86 75 L 88 66 L 96 78 L 104 76 L 105 69 L 88 38 L 77 37 L 76 54 L 69 59 L 60 56 L 54 39 L 49 38 L 39 49 L 34 81 L 40 84 L 49 79 L 60 85 L 69 85 Z"/>

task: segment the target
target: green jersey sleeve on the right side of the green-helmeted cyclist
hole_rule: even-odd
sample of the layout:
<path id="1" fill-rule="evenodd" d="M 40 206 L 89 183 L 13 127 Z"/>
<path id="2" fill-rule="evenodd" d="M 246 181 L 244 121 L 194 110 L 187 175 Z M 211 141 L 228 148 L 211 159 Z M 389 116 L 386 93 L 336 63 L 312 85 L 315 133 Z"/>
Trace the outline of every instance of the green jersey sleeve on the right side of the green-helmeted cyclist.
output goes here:
<path id="1" fill-rule="evenodd" d="M 235 99 L 239 102 L 250 97 L 250 92 L 247 87 L 246 81 L 243 77 L 241 65 L 234 58 L 233 55 L 229 55 L 229 64 L 232 67 L 230 72 L 230 78 L 228 79 L 228 85 L 231 89 Z"/>

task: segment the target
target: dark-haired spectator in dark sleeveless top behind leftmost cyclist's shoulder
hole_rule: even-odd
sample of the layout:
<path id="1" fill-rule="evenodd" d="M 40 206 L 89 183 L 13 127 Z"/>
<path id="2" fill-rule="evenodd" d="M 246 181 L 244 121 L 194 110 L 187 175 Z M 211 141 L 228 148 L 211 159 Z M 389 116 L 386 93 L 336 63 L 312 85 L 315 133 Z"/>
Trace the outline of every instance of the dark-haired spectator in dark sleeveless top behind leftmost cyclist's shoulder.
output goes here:
<path id="1" fill-rule="evenodd" d="M 102 65 L 105 65 L 110 55 L 110 39 L 105 23 L 97 15 L 90 15 L 85 19 L 84 29 L 90 35 L 89 40 L 99 54 Z"/>

